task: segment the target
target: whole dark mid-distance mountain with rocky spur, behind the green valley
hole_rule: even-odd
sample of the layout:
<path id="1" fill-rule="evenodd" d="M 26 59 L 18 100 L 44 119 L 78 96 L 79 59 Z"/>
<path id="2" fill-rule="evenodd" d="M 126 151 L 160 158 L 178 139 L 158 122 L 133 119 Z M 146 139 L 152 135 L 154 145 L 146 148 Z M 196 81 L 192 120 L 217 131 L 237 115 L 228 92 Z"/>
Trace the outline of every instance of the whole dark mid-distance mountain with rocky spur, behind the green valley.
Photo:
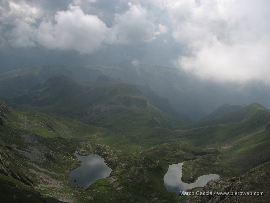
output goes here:
<path id="1" fill-rule="evenodd" d="M 175 130 L 190 125 L 160 110 L 135 85 L 82 82 L 64 75 L 49 78 L 25 95 L 9 97 L 7 103 L 13 107 L 57 112 L 122 132 L 133 127 Z"/>

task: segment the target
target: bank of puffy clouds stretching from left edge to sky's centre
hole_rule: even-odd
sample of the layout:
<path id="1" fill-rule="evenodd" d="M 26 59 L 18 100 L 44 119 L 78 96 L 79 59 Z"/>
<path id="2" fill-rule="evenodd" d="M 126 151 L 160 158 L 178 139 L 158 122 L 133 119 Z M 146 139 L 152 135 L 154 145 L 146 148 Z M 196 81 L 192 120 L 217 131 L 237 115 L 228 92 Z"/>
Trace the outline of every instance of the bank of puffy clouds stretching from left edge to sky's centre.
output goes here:
<path id="1" fill-rule="evenodd" d="M 82 1 L 74 0 L 67 10 L 57 11 L 52 18 L 24 1 L 9 2 L 9 10 L 2 12 L 0 20 L 4 25 L 11 25 L 11 29 L 1 29 L 1 33 L 12 46 L 43 45 L 83 54 L 91 54 L 104 45 L 151 42 L 161 33 L 155 31 L 155 25 L 147 19 L 147 10 L 140 4 L 128 3 L 129 10 L 115 14 L 111 28 L 97 15 L 85 14 L 80 5 Z"/>

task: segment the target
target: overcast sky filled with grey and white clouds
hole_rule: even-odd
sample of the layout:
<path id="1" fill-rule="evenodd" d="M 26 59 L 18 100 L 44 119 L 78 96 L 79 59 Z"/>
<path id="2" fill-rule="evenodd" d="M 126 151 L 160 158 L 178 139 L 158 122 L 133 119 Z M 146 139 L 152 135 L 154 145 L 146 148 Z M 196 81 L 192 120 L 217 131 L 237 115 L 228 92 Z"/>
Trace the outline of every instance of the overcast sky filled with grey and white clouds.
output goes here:
<path id="1" fill-rule="evenodd" d="M 270 84 L 269 8 L 269 0 L 0 0 L 0 73 L 132 61 Z"/>

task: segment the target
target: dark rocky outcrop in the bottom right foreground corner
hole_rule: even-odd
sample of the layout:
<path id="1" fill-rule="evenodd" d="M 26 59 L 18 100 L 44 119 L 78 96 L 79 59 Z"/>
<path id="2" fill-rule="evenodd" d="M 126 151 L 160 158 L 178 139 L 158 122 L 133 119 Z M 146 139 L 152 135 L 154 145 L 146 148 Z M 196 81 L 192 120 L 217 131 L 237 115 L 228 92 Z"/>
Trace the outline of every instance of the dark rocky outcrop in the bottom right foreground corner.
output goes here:
<path id="1" fill-rule="evenodd" d="M 191 197 L 187 202 L 269 202 L 270 163 L 259 165 L 240 177 L 210 180 L 201 192 L 212 192 L 213 195 L 198 195 Z M 217 195 L 217 192 L 227 194 Z M 240 192 L 248 192 L 248 195 Z M 254 195 L 255 192 L 263 192 L 263 195 Z"/>

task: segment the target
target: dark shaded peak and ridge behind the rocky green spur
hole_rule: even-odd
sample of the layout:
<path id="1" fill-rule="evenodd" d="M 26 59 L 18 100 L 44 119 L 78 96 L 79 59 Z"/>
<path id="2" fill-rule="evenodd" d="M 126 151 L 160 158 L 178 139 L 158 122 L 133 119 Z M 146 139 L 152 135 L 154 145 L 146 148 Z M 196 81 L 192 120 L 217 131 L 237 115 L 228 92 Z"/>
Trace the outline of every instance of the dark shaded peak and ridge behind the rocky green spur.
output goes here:
<path id="1" fill-rule="evenodd" d="M 64 106 L 66 108 L 64 113 L 70 114 L 73 110 L 78 112 L 85 107 L 109 102 L 118 94 L 128 96 L 130 93 L 134 97 L 140 96 L 140 92 L 135 86 L 124 84 L 100 86 L 91 82 L 75 81 L 64 75 L 55 75 L 33 88 L 26 95 L 11 98 L 10 103 L 37 109 L 49 109 L 48 111 L 56 109 L 57 112 L 61 112 L 61 108 Z M 131 105 L 131 103 L 124 103 L 124 105 Z"/>

